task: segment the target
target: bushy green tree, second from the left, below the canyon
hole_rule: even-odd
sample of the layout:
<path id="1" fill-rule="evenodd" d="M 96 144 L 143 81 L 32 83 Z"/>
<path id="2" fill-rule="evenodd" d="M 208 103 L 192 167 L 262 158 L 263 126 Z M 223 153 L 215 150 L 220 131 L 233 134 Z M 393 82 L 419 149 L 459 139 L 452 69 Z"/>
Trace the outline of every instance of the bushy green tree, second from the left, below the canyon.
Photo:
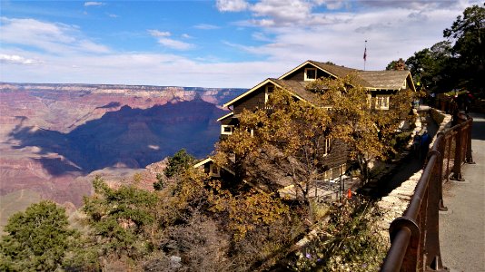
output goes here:
<path id="1" fill-rule="evenodd" d="M 84 212 L 92 228 L 92 236 L 105 256 L 116 254 L 140 257 L 153 237 L 157 195 L 134 186 L 110 188 L 103 179 L 93 180 L 94 195 L 84 197 Z"/>

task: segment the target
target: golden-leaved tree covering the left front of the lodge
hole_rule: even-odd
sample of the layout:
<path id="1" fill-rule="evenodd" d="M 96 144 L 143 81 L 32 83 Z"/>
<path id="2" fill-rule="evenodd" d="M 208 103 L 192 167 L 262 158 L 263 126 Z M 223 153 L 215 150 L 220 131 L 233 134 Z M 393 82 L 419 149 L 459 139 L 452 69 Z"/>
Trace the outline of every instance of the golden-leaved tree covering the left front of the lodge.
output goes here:
<path id="1" fill-rule="evenodd" d="M 329 122 L 326 108 L 276 89 L 266 110 L 242 113 L 233 135 L 219 143 L 215 160 L 228 165 L 235 157 L 238 176 L 262 189 L 276 192 L 292 184 L 312 220 L 310 190 L 326 170 L 321 160 Z"/>

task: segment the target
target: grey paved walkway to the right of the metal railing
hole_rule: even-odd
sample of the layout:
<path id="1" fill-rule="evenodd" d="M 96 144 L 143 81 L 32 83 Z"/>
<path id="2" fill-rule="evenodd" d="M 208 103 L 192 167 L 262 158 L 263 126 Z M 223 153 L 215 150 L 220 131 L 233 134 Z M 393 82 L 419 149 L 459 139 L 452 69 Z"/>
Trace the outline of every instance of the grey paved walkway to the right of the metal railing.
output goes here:
<path id="1" fill-rule="evenodd" d="M 450 271 L 485 271 L 485 115 L 471 113 L 471 149 L 476 164 L 462 169 L 465 181 L 443 187 L 448 211 L 440 212 L 440 251 Z"/>

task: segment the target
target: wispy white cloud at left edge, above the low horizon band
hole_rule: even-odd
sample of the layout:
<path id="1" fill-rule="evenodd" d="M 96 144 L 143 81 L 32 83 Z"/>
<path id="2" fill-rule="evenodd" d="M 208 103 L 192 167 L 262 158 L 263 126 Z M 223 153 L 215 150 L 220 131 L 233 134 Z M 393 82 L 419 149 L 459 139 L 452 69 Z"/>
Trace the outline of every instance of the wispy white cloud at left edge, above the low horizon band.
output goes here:
<path id="1" fill-rule="evenodd" d="M 5 45 L 27 45 L 56 54 L 110 51 L 106 46 L 84 38 L 74 25 L 6 17 L 1 17 L 1 22 L 0 32 Z"/>

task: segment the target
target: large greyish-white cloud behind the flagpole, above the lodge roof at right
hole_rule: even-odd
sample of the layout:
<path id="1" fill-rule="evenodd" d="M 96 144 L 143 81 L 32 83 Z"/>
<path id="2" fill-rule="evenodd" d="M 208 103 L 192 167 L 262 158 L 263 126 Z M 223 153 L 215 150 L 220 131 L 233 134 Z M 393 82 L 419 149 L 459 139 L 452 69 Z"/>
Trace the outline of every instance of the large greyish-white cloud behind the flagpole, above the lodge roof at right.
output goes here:
<path id="1" fill-rule="evenodd" d="M 282 17 L 275 8 L 279 4 L 267 6 L 270 1 L 262 1 L 252 6 L 254 12 L 258 4 L 266 5 L 260 6 L 258 15 L 268 16 L 258 19 L 255 15 L 252 21 L 240 24 L 262 27 L 260 32 L 269 34 L 272 39 L 267 41 L 268 44 L 258 46 L 230 42 L 226 42 L 226 45 L 259 58 L 265 57 L 268 62 L 294 63 L 296 66 L 311 59 L 363 69 L 364 41 L 368 40 L 368 70 L 382 70 L 392 60 L 406 59 L 414 52 L 444 40 L 442 30 L 450 27 L 456 16 L 463 11 L 458 5 L 424 13 L 411 8 L 386 7 L 365 9 L 359 13 L 309 12 L 305 15 L 306 19 L 302 20 L 305 16 L 287 14 Z M 305 10 L 302 6 L 302 15 Z M 307 23 L 302 25 L 299 22 Z M 262 41 L 261 34 L 253 34 L 252 38 Z"/>

